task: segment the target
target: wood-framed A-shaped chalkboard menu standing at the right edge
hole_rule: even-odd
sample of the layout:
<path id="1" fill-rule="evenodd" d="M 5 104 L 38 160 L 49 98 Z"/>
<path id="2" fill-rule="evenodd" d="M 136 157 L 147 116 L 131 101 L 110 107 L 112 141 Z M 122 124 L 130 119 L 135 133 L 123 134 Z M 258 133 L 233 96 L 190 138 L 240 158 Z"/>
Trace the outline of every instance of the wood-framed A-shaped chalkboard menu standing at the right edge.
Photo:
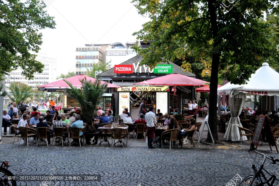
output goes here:
<path id="1" fill-rule="evenodd" d="M 267 116 L 259 116 L 259 120 L 258 120 L 257 126 L 255 128 L 252 143 L 256 146 L 256 150 L 257 150 L 257 147 L 259 144 L 259 140 L 261 138 L 261 133 L 262 133 L 263 127 L 264 127 L 264 131 L 266 133 L 266 135 L 265 135 L 266 141 L 269 144 L 270 150 L 272 150 L 272 148 L 271 148 L 271 145 L 272 145 L 272 146 L 276 147 L 277 153 L 279 153 Z"/>

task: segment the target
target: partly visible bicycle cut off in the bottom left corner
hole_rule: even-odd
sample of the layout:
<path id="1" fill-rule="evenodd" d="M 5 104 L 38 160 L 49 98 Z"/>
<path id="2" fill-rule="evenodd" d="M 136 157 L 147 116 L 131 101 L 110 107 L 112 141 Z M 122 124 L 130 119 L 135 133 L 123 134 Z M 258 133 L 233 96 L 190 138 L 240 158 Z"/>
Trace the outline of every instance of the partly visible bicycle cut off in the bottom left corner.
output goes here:
<path id="1" fill-rule="evenodd" d="M 8 170 L 10 161 L 0 161 L 0 186 L 16 186 L 14 174 Z"/>

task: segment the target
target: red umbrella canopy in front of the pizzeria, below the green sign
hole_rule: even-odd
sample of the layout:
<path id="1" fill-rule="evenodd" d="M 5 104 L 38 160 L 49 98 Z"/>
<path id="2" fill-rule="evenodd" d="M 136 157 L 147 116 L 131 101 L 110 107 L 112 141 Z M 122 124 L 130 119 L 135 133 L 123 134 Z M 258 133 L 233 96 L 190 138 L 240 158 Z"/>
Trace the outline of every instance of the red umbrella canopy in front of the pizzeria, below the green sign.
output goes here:
<path id="1" fill-rule="evenodd" d="M 134 85 L 142 84 L 143 82 L 135 83 Z M 156 77 L 145 81 L 149 85 L 168 85 L 168 86 L 203 86 L 206 81 L 202 81 L 193 77 L 184 76 L 181 74 L 169 74 L 162 77 Z"/>

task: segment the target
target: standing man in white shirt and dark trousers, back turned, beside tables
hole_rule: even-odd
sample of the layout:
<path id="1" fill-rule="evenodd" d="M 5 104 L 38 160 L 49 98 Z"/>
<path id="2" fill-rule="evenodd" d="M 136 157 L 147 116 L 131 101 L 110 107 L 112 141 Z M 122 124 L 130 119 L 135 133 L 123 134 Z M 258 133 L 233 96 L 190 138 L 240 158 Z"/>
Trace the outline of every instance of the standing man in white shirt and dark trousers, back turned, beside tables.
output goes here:
<path id="1" fill-rule="evenodd" d="M 153 149 L 153 137 L 155 132 L 155 124 L 157 123 L 156 115 L 153 113 L 153 106 L 149 107 L 149 112 L 145 114 L 145 122 L 147 125 L 146 128 L 146 137 L 147 137 L 147 144 L 149 149 Z"/>

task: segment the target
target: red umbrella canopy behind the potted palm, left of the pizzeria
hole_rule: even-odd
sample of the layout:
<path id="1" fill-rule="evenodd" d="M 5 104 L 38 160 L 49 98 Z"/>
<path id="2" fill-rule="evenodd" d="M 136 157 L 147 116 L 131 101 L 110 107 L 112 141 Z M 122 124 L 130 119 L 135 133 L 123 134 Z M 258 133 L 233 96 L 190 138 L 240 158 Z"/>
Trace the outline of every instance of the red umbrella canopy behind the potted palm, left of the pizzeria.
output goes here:
<path id="1" fill-rule="evenodd" d="M 86 76 L 86 75 L 76 75 L 76 76 L 73 76 L 73 77 L 65 78 L 65 80 L 72 83 L 73 86 L 75 86 L 75 87 L 81 87 L 82 85 L 81 85 L 81 82 L 79 80 L 84 79 L 84 78 L 86 78 L 86 80 L 91 80 L 91 81 L 96 80 L 95 78 L 89 77 L 89 76 Z M 102 81 L 102 83 L 107 83 L 108 88 L 120 87 L 120 86 L 113 85 L 113 84 L 105 82 L 105 81 Z M 61 79 L 61 80 L 57 80 L 57 81 L 39 86 L 39 91 L 44 91 L 44 90 L 47 89 L 47 91 L 49 91 L 49 92 L 61 92 L 61 91 L 64 91 L 64 89 L 69 88 L 69 87 L 70 86 L 63 79 Z"/>

